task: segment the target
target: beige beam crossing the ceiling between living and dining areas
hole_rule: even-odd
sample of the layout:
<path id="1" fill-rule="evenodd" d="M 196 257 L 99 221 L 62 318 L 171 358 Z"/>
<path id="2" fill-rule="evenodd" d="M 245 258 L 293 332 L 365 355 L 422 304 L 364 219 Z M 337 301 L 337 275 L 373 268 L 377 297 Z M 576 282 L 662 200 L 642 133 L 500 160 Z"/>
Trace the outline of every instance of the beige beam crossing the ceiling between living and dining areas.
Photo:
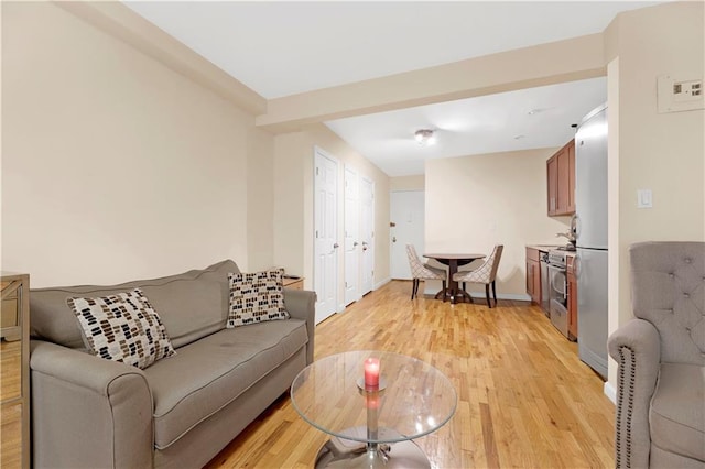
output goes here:
<path id="1" fill-rule="evenodd" d="M 590 34 L 271 99 L 257 124 L 293 131 L 313 122 L 605 75 L 603 34 Z"/>

